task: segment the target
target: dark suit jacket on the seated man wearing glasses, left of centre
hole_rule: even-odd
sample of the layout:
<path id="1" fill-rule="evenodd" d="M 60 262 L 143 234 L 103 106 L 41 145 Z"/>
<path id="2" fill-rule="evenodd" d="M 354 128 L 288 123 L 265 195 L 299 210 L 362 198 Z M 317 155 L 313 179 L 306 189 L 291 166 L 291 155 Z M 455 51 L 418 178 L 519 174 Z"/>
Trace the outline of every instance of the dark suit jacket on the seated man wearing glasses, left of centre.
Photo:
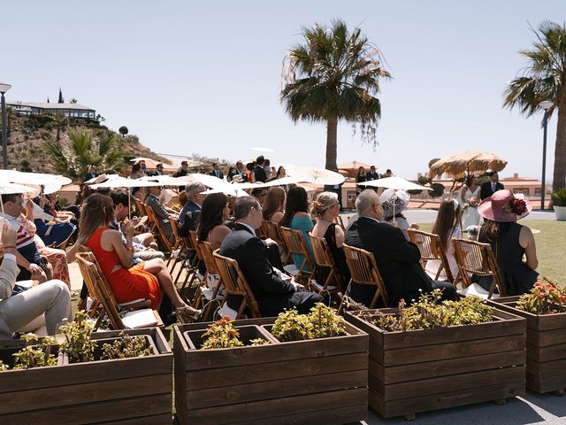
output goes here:
<path id="1" fill-rule="evenodd" d="M 295 291 L 291 283 L 284 282 L 273 271 L 265 243 L 240 223 L 236 223 L 232 233 L 222 241 L 220 255 L 238 261 L 262 313 L 279 308 Z M 228 302 L 228 305 L 233 308 L 232 303 Z"/>

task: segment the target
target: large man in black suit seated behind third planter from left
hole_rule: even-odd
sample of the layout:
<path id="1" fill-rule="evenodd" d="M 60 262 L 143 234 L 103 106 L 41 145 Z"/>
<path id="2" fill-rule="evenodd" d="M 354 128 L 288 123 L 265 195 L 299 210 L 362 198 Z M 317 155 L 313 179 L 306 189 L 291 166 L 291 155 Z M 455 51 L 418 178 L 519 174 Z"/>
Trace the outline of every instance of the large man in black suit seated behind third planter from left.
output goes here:
<path id="1" fill-rule="evenodd" d="M 383 207 L 378 194 L 365 189 L 356 198 L 359 219 L 346 231 L 345 242 L 373 253 L 379 274 L 386 285 L 390 306 L 396 306 L 403 298 L 407 304 L 416 300 L 420 290 L 430 292 L 443 289 L 443 298 L 454 299 L 455 289 L 451 284 L 434 282 L 420 266 L 421 258 L 417 245 L 409 242 L 401 229 L 383 220 Z M 375 288 L 352 284 L 350 297 L 364 305 L 370 305 Z"/>

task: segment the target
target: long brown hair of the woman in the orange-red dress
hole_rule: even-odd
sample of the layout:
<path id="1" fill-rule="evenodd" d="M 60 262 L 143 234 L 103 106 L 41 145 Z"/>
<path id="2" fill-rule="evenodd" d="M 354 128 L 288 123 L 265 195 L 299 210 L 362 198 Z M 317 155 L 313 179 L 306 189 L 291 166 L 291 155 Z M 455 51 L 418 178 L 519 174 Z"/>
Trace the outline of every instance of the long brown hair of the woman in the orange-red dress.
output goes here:
<path id="1" fill-rule="evenodd" d="M 97 228 L 107 226 L 114 218 L 112 198 L 100 193 L 93 193 L 82 203 L 77 243 L 87 243 Z"/>

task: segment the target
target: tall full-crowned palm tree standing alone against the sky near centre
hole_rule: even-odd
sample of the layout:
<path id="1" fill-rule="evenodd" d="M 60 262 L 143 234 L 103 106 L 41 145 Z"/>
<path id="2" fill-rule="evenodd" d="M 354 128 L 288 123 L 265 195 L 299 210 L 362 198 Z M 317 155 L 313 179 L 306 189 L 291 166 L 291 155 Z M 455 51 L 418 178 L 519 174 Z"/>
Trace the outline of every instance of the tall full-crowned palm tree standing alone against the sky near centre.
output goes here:
<path id="1" fill-rule="evenodd" d="M 362 140 L 377 144 L 379 77 L 390 75 L 360 28 L 350 33 L 343 21 L 333 20 L 330 27 L 302 28 L 302 36 L 304 42 L 284 59 L 280 100 L 294 122 L 326 121 L 326 168 L 335 170 L 339 120 L 359 124 Z"/>

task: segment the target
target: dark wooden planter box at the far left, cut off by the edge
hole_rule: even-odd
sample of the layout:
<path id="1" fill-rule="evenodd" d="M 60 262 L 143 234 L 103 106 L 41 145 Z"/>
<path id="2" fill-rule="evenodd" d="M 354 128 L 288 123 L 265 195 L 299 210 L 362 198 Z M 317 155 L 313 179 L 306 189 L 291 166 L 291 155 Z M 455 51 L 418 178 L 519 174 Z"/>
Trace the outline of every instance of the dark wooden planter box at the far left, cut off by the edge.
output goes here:
<path id="1" fill-rule="evenodd" d="M 157 355 L 98 360 L 65 366 L 0 372 L 0 424 L 155 423 L 172 422 L 172 352 L 158 328 L 126 331 L 147 335 Z M 93 339 L 111 342 L 118 331 L 97 332 Z M 8 359 L 24 346 L 0 343 Z"/>

